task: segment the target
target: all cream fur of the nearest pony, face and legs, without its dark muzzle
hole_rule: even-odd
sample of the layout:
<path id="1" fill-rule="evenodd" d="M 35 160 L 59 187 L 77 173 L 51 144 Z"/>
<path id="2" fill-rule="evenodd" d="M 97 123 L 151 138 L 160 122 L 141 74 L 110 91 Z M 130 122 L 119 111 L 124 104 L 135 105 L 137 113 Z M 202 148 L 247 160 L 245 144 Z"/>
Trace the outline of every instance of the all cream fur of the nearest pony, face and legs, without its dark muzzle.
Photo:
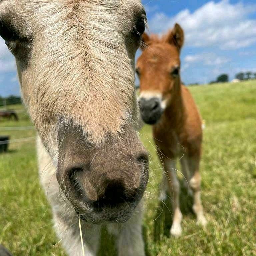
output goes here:
<path id="1" fill-rule="evenodd" d="M 82 256 L 82 247 L 78 215 L 56 179 L 59 127 L 72 122 L 100 146 L 107 135 L 117 136 L 124 124 L 136 122 L 134 57 L 139 40 L 131 38 L 141 11 L 139 0 L 0 0 L 0 18 L 24 39 L 8 47 L 40 136 L 41 185 L 70 256 Z M 119 256 L 144 255 L 141 220 L 139 203 L 131 219 L 118 225 Z M 100 228 L 82 221 L 87 256 L 97 253 Z"/>

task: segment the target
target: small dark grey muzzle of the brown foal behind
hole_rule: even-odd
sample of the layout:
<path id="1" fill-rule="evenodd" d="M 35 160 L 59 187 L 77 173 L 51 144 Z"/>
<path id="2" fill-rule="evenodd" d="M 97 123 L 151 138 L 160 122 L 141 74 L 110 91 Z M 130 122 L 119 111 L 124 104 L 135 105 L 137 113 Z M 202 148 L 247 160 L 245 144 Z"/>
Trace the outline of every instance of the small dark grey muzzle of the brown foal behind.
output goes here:
<path id="1" fill-rule="evenodd" d="M 146 124 L 156 124 L 163 113 L 159 98 L 140 98 L 139 99 L 140 113 L 143 121 Z"/>

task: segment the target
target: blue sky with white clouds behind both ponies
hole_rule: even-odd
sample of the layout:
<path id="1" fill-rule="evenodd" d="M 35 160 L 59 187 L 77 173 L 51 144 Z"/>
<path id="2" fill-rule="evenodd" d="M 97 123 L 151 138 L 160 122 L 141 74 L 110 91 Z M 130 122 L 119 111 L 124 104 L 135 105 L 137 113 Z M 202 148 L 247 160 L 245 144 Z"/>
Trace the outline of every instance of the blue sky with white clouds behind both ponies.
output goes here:
<path id="1" fill-rule="evenodd" d="M 149 33 L 164 33 L 178 22 L 185 31 L 182 80 L 205 83 L 228 73 L 256 72 L 255 0 L 142 0 Z M 139 52 L 138 52 L 139 54 Z M 137 56 L 138 56 L 137 54 Z M 19 94 L 13 57 L 0 40 L 0 95 Z"/>

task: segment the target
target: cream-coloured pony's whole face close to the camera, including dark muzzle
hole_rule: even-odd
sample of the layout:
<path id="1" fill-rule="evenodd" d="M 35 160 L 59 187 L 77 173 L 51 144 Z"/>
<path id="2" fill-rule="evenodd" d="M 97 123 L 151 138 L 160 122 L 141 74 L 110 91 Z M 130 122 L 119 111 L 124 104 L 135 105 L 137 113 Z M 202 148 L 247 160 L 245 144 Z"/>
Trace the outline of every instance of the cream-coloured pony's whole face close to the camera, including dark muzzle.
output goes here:
<path id="1" fill-rule="evenodd" d="M 0 0 L 24 103 L 63 192 L 79 213 L 92 212 L 91 222 L 131 214 L 147 183 L 133 129 L 145 20 L 138 0 Z"/>

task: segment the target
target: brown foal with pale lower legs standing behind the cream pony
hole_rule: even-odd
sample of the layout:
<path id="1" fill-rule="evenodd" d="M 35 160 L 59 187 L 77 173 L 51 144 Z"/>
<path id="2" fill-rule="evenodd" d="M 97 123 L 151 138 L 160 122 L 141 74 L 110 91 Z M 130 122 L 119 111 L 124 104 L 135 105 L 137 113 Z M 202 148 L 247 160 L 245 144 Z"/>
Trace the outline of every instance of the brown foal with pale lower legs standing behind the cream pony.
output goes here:
<path id="1" fill-rule="evenodd" d="M 206 225 L 200 199 L 201 176 L 199 163 L 202 144 L 202 121 L 197 106 L 180 78 L 180 51 L 184 32 L 179 24 L 166 35 L 143 34 L 136 72 L 140 78 L 140 112 L 143 121 L 153 127 L 153 136 L 159 158 L 163 163 L 160 198 L 166 190 L 173 204 L 171 234 L 182 232 L 182 214 L 179 206 L 179 182 L 176 160 L 179 159 L 184 180 L 193 195 L 193 210 L 198 223 Z"/>

